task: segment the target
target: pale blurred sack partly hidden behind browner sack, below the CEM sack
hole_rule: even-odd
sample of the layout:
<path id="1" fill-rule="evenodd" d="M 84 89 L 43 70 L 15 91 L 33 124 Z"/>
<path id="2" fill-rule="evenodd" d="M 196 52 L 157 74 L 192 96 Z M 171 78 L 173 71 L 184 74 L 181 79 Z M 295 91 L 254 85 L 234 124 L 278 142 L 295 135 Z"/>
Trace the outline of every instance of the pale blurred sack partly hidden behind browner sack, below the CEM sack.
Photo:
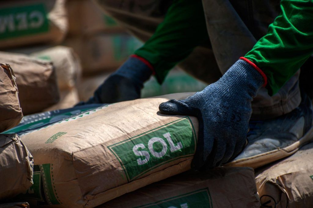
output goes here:
<path id="1" fill-rule="evenodd" d="M 31 56 L 53 62 L 60 90 L 69 90 L 75 87 L 80 78 L 81 66 L 80 59 L 72 48 L 56 46 L 32 53 Z"/>

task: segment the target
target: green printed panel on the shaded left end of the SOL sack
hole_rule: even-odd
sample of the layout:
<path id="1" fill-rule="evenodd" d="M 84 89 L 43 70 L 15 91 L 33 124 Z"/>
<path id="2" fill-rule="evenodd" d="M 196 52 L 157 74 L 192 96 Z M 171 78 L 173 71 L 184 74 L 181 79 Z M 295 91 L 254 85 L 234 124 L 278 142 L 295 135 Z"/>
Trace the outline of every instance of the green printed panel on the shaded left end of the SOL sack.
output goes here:
<path id="1" fill-rule="evenodd" d="M 17 200 L 36 200 L 38 205 L 60 204 L 54 190 L 52 164 L 35 165 L 33 171 L 33 185 L 26 193 L 16 196 Z"/>

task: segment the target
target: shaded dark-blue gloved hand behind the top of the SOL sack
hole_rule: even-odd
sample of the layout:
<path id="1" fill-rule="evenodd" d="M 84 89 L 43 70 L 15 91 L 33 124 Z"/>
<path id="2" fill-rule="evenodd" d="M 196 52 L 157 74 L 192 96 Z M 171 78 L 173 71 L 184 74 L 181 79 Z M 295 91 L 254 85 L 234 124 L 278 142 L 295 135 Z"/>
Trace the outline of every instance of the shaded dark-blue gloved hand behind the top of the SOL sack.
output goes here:
<path id="1" fill-rule="evenodd" d="M 150 78 L 152 72 L 153 68 L 148 62 L 133 55 L 98 87 L 93 97 L 78 105 L 114 103 L 140 98 L 143 83 Z"/>

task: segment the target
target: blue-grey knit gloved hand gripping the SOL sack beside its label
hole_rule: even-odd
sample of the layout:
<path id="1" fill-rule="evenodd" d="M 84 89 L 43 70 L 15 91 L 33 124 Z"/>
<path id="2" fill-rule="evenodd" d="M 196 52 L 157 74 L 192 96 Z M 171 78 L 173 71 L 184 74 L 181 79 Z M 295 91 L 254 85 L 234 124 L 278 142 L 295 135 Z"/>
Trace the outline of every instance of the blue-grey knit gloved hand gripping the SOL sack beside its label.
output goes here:
<path id="1" fill-rule="evenodd" d="M 196 116 L 199 120 L 193 169 L 204 170 L 227 163 L 246 146 L 251 101 L 266 82 L 261 73 L 248 62 L 238 60 L 203 91 L 184 100 L 161 103 L 162 113 Z"/>

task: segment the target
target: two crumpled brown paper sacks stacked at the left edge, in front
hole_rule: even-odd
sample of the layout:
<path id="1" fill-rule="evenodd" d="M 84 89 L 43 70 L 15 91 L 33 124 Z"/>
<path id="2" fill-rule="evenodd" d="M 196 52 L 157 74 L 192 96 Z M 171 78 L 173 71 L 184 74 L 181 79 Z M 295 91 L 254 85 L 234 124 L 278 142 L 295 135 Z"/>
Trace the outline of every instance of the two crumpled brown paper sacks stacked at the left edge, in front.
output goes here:
<path id="1" fill-rule="evenodd" d="M 10 65 L 0 63 L 0 131 L 21 121 L 16 78 Z M 0 200 L 26 192 L 33 184 L 33 157 L 16 134 L 0 134 Z"/>

